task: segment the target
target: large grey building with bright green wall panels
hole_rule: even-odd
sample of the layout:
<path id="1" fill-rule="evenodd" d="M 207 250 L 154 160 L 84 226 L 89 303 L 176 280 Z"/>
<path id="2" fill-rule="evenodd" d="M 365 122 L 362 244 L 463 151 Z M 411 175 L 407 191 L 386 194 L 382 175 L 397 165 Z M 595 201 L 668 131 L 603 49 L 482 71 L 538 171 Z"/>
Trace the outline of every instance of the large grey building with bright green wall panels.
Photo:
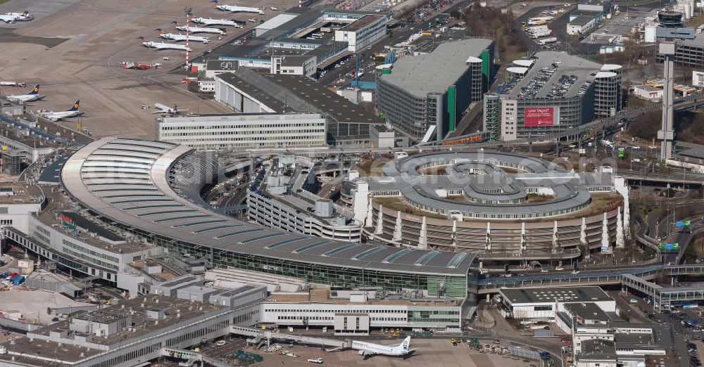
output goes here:
<path id="1" fill-rule="evenodd" d="M 482 101 L 494 77 L 494 41 L 464 39 L 431 53 L 406 56 L 377 77 L 377 109 L 384 120 L 422 139 L 432 125 L 438 139 L 455 130 L 470 103 Z"/>

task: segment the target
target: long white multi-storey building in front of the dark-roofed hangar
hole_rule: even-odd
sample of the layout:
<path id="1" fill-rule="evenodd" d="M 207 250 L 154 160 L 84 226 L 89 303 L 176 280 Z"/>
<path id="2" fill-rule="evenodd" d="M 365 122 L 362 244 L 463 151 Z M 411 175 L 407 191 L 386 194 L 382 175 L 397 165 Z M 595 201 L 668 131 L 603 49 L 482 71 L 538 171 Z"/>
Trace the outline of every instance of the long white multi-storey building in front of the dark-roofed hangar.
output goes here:
<path id="1" fill-rule="evenodd" d="M 327 119 L 320 113 L 241 113 L 161 116 L 160 141 L 199 149 L 324 146 Z"/>

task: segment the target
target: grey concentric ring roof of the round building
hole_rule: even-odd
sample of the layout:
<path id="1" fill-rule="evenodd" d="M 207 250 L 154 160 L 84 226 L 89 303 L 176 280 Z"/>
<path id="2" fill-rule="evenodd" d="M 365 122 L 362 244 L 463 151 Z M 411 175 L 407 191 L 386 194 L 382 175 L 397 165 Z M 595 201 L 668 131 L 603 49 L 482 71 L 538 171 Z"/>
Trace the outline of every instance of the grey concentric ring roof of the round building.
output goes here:
<path id="1" fill-rule="evenodd" d="M 423 167 L 434 167 L 436 171 L 419 172 L 426 169 Z M 610 172 L 566 172 L 559 165 L 538 157 L 489 150 L 418 153 L 399 157 L 386 162 L 382 173 L 364 177 L 369 190 L 400 191 L 403 198 L 378 198 L 375 201 L 406 200 L 413 202 L 414 206 L 441 209 L 440 212 L 426 212 L 440 213 L 442 216 L 446 211 L 453 210 L 475 219 L 538 219 L 576 213 L 593 215 L 585 213 L 598 212 L 609 205 L 610 198 L 595 200 L 596 195 L 601 193 L 592 194 L 588 188 L 601 190 L 614 186 Z M 551 188 L 551 195 L 545 195 L 544 200 L 532 200 L 528 192 L 536 187 Z M 439 189 L 458 192 L 441 195 Z M 413 209 L 410 211 L 413 212 Z"/>

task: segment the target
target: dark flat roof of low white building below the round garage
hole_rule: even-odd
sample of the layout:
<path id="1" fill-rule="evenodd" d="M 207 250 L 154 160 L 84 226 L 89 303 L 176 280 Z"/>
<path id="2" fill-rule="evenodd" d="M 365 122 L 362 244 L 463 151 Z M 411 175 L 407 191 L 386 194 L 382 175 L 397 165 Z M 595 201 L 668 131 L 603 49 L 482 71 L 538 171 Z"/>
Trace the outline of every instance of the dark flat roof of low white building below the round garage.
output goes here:
<path id="1" fill-rule="evenodd" d="M 504 288 L 498 290 L 510 304 L 558 302 L 603 302 L 613 299 L 599 287 Z"/>

